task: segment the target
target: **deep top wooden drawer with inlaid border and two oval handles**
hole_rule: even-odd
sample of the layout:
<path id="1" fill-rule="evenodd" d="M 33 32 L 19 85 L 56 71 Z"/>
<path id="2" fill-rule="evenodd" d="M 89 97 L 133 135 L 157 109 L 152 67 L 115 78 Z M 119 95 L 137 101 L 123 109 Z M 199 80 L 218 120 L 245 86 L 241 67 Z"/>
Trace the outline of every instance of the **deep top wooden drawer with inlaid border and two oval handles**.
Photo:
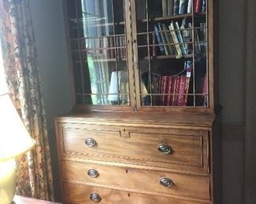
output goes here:
<path id="1" fill-rule="evenodd" d="M 208 132 L 183 129 L 61 127 L 61 153 L 146 166 L 208 172 Z M 91 143 L 91 147 L 86 141 Z M 168 153 L 169 151 L 169 153 Z"/>

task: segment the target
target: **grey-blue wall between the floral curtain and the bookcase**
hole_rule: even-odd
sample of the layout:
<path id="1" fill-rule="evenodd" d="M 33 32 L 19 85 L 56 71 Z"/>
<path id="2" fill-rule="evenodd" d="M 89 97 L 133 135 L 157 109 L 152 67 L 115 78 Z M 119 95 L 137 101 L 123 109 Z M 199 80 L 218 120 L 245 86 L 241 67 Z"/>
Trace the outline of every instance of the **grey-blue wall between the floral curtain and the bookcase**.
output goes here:
<path id="1" fill-rule="evenodd" d="M 55 194 L 58 197 L 54 117 L 72 108 L 62 2 L 61 0 L 32 0 L 31 10 L 43 82 L 43 99 L 49 129 Z"/>

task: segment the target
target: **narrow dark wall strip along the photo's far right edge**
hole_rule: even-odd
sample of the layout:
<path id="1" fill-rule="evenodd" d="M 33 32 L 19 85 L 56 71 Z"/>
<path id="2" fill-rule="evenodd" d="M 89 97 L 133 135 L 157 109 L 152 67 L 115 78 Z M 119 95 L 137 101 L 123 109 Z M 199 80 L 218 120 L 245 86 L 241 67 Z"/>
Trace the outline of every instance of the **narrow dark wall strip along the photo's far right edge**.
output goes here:
<path id="1" fill-rule="evenodd" d="M 247 56 L 245 103 L 245 203 L 256 203 L 256 2 L 247 0 Z"/>

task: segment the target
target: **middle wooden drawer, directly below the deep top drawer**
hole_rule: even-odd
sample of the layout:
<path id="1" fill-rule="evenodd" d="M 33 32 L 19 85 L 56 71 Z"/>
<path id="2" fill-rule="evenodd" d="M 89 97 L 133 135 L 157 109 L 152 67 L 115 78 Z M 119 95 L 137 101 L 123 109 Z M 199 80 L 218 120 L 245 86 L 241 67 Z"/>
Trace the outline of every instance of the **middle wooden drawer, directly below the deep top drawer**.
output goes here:
<path id="1" fill-rule="evenodd" d="M 91 176 L 88 175 L 89 170 L 91 170 Z M 64 180 L 78 181 L 83 184 L 97 183 L 165 197 L 210 199 L 209 177 L 71 161 L 62 162 L 62 177 Z M 167 188 L 163 182 L 173 182 L 173 185 Z"/>

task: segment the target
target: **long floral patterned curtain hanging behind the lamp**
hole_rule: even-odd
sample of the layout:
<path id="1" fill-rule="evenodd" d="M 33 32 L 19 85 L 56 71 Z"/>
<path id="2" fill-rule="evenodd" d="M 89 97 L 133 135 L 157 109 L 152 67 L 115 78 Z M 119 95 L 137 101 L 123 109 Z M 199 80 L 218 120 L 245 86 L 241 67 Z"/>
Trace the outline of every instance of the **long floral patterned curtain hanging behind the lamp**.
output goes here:
<path id="1" fill-rule="evenodd" d="M 0 23 L 10 97 L 37 142 L 32 151 L 17 158 L 17 194 L 53 200 L 50 148 L 29 1 L 1 0 Z"/>

